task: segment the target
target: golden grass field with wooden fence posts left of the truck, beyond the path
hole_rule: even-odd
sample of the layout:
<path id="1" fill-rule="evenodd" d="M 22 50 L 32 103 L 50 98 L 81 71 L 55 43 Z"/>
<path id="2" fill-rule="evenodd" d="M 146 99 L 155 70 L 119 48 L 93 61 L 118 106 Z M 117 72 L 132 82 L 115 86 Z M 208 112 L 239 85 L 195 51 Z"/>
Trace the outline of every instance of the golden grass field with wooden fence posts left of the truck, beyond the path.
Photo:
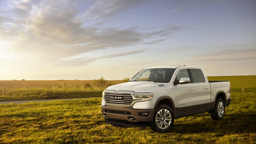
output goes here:
<path id="1" fill-rule="evenodd" d="M 108 86 L 120 83 L 122 80 L 107 81 L 103 78 L 83 81 L 0 81 L 0 101 L 101 97 L 102 91 Z"/>

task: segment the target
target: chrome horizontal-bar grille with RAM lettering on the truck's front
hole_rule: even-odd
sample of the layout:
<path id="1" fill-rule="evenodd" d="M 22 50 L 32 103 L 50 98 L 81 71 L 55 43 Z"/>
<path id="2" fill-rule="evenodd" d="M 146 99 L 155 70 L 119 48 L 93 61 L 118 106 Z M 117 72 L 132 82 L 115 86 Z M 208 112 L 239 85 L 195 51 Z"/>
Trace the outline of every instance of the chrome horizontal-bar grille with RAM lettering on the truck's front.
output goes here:
<path id="1" fill-rule="evenodd" d="M 132 94 L 105 92 L 104 99 L 107 104 L 130 105 L 132 103 Z"/>

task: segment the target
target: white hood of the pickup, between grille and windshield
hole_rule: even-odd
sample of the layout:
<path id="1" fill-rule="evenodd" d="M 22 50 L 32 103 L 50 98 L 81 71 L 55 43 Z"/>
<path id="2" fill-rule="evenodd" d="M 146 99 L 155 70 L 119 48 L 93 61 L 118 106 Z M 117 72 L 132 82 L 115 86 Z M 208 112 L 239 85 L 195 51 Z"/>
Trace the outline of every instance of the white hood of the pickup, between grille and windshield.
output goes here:
<path id="1" fill-rule="evenodd" d="M 166 83 L 137 81 L 137 82 L 127 82 L 127 83 L 112 85 L 112 86 L 109 86 L 106 90 L 148 92 L 151 90 L 162 89 L 162 88 L 166 88 L 166 87 L 168 87 L 168 84 L 166 84 Z"/>

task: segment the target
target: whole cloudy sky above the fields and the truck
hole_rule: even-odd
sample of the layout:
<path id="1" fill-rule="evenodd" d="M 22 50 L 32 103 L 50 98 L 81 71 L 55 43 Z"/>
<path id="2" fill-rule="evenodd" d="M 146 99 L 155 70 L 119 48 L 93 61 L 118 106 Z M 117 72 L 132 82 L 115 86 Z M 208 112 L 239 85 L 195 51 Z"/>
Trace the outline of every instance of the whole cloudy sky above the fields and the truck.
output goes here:
<path id="1" fill-rule="evenodd" d="M 255 0 L 1 0 L 0 80 L 256 74 Z"/>

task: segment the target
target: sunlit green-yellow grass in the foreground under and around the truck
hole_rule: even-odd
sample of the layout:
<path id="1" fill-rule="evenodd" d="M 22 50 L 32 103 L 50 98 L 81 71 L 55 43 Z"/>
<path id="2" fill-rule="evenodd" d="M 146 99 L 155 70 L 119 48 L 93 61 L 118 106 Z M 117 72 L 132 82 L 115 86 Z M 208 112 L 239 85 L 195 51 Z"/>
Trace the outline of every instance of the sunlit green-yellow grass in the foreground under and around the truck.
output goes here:
<path id="1" fill-rule="evenodd" d="M 222 120 L 175 119 L 168 133 L 106 124 L 101 98 L 0 104 L 0 143 L 256 143 L 256 97 L 232 93 Z"/>

